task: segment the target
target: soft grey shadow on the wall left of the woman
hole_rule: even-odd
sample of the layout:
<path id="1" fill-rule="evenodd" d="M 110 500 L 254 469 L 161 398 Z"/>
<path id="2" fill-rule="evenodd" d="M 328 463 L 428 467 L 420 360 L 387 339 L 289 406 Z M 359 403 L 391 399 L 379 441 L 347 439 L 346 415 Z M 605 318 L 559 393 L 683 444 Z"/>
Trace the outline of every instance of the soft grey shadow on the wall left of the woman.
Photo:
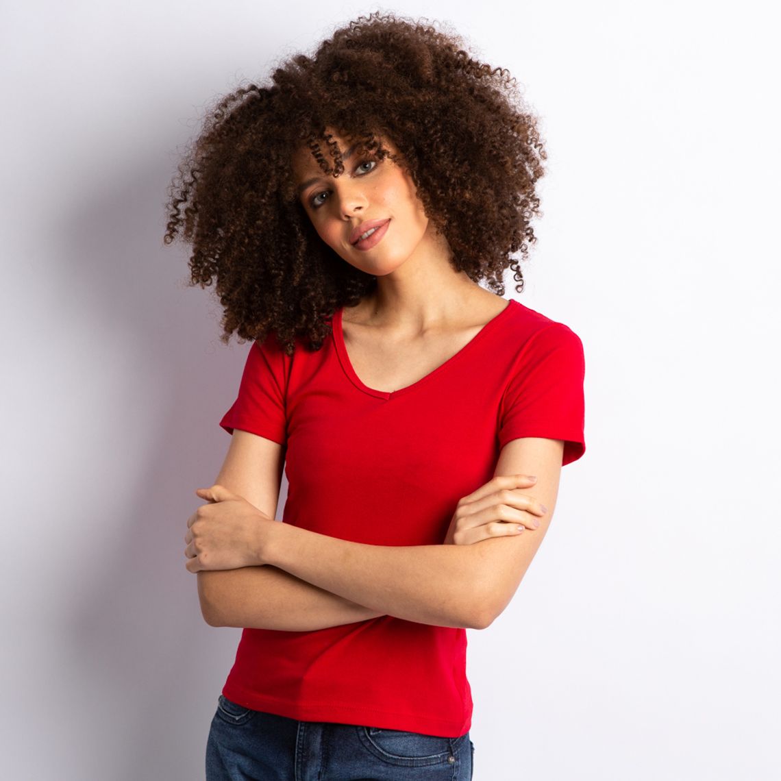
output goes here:
<path id="1" fill-rule="evenodd" d="M 98 560 L 73 573 L 80 596 L 62 617 L 71 655 L 59 676 L 83 722 L 70 728 L 84 734 L 81 772 L 95 779 L 107 767 L 116 781 L 202 777 L 240 635 L 201 619 L 184 533 L 202 504 L 194 490 L 212 484 L 230 443 L 218 423 L 249 343 L 219 342 L 212 289 L 187 287 L 187 248 L 162 244 L 164 179 L 159 166 L 137 166 L 60 226 L 80 316 L 141 356 L 127 374 L 134 392 L 91 422 L 111 452 L 88 454 L 85 483 L 98 482 L 101 501 L 84 506 L 105 535 L 84 540 Z"/>

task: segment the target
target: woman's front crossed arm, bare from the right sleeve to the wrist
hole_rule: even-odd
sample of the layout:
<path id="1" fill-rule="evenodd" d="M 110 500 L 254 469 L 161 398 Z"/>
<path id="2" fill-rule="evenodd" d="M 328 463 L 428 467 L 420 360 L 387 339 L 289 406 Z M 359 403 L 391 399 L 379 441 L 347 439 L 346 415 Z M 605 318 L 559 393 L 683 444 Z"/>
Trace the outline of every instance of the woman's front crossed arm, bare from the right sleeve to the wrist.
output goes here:
<path id="1" fill-rule="evenodd" d="M 551 508 L 539 528 L 514 539 L 487 539 L 473 545 L 377 546 L 263 519 L 230 493 L 223 500 L 239 501 L 225 512 L 230 517 L 231 512 L 241 515 L 248 508 L 252 522 L 245 520 L 243 528 L 251 530 L 247 548 L 251 560 L 276 566 L 383 614 L 435 626 L 483 629 L 512 599 L 544 538 L 558 494 L 563 446 L 562 440 L 526 437 L 503 448 L 495 476 L 536 474 L 534 497 Z M 506 487 L 512 483 L 498 478 L 497 488 L 505 487 L 504 482 Z M 216 528 L 204 522 L 193 529 L 201 533 L 205 527 Z M 209 544 L 203 561 L 193 559 L 192 566 L 209 569 L 207 548 Z"/>

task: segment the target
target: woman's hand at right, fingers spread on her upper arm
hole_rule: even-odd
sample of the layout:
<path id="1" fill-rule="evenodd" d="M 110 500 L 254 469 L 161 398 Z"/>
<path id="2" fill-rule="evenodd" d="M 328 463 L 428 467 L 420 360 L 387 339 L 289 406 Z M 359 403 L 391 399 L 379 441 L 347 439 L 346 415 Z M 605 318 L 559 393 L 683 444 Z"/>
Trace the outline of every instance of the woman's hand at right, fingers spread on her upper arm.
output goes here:
<path id="1" fill-rule="evenodd" d="M 458 500 L 446 545 L 471 545 L 491 537 L 517 537 L 534 530 L 547 512 L 534 497 L 522 493 L 537 478 L 530 475 L 497 475 L 476 491 Z"/>

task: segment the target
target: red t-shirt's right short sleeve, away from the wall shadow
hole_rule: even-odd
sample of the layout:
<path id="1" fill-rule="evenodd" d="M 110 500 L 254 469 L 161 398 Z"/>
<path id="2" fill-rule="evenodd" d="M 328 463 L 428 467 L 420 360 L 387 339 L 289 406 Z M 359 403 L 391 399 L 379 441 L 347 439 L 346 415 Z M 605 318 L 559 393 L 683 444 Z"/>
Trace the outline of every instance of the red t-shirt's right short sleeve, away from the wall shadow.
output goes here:
<path id="1" fill-rule="evenodd" d="M 562 465 L 586 451 L 583 343 L 563 323 L 534 333 L 513 367 L 502 398 L 500 448 L 519 437 L 564 440 Z"/>

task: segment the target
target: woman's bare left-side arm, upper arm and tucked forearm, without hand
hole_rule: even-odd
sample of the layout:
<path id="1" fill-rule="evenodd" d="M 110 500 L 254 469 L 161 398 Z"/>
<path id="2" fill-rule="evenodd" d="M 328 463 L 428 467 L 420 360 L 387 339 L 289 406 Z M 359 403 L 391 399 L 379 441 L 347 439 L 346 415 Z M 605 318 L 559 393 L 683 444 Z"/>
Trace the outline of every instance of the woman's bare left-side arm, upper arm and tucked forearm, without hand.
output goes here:
<path id="1" fill-rule="evenodd" d="M 283 464 L 280 444 L 237 429 L 216 483 L 273 518 Z M 384 615 L 275 567 L 198 572 L 197 578 L 201 614 L 210 626 L 303 632 Z"/>

